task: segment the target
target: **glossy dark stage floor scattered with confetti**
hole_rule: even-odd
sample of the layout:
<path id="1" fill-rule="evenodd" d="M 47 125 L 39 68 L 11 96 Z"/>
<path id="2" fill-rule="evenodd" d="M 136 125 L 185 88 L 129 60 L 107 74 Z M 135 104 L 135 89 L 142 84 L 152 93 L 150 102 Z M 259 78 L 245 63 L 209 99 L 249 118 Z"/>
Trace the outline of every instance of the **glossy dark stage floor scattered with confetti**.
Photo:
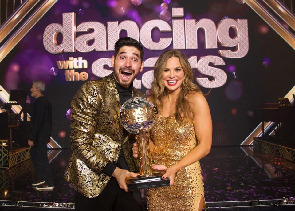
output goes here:
<path id="1" fill-rule="evenodd" d="M 74 203 L 75 190 L 63 175 L 70 150 L 48 152 L 54 190 L 30 186 L 34 171 L 30 160 L 1 171 L 0 200 Z M 279 199 L 295 196 L 295 163 L 252 147 L 212 147 L 201 161 L 207 202 Z"/>

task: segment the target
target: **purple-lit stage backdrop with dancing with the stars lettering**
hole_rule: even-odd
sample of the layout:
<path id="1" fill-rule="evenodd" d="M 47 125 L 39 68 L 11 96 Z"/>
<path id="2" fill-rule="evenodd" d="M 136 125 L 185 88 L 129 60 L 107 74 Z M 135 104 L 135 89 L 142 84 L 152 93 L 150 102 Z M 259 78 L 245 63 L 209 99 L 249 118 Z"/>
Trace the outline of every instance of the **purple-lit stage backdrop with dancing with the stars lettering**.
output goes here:
<path id="1" fill-rule="evenodd" d="M 69 147 L 73 96 L 85 81 L 112 72 L 114 43 L 128 35 L 144 46 L 136 88 L 149 94 L 157 57 L 182 50 L 194 82 L 203 93 L 211 90 L 213 145 L 240 145 L 260 123 L 258 105 L 278 102 L 294 86 L 295 53 L 239 2 L 57 1 L 1 62 L 0 84 L 30 96 L 33 80 L 43 80 L 53 105 L 52 137 Z"/>

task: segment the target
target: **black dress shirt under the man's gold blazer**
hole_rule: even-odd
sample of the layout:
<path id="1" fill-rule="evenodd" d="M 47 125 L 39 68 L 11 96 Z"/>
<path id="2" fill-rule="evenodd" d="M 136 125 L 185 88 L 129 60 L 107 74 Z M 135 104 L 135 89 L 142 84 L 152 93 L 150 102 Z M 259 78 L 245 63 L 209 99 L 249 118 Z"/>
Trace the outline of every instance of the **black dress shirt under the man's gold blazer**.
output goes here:
<path id="1" fill-rule="evenodd" d="M 127 100 L 129 100 L 130 98 L 132 98 L 132 87 L 133 87 L 133 82 L 131 83 L 131 85 L 129 86 L 129 88 L 125 88 L 123 86 L 121 86 L 115 78 L 113 78 L 115 81 L 115 85 L 116 85 L 116 89 L 119 93 L 119 98 L 121 101 L 121 105 L 123 105 L 124 102 L 126 102 Z M 120 123 L 119 123 L 120 124 Z M 125 130 L 123 128 L 123 140 L 128 136 L 128 131 Z M 114 170 L 116 169 L 116 167 L 119 167 L 120 169 L 125 169 L 125 170 L 129 170 L 128 165 L 126 163 L 124 154 L 123 154 L 123 150 L 121 148 L 120 150 L 120 154 L 118 157 L 118 161 L 117 162 L 108 162 L 108 164 L 104 167 L 104 169 L 102 170 L 102 172 L 108 176 L 112 176 L 112 173 L 114 172 Z"/>

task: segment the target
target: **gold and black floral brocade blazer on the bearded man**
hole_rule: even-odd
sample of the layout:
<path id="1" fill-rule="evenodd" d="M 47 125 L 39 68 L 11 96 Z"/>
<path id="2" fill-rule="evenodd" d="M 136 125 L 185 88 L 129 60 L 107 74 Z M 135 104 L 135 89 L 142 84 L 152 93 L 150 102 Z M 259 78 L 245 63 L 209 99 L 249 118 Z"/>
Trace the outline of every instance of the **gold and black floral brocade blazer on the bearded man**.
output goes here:
<path id="1" fill-rule="evenodd" d="M 130 171 L 138 172 L 132 154 L 133 135 L 122 140 L 121 102 L 112 75 L 85 82 L 71 103 L 72 155 L 64 178 L 89 198 L 98 196 L 108 184 L 110 177 L 102 170 L 109 161 L 118 160 L 121 147 Z M 145 97 L 134 87 L 132 95 Z"/>

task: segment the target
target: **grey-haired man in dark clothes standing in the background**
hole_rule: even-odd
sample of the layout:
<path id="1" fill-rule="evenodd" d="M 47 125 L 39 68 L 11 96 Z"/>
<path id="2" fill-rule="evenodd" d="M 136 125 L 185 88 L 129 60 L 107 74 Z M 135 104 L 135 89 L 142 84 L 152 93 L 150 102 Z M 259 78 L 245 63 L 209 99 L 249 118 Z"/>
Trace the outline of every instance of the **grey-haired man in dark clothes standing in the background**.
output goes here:
<path id="1" fill-rule="evenodd" d="M 34 81 L 30 91 L 36 100 L 31 113 L 31 134 L 28 144 L 31 147 L 31 160 L 38 177 L 32 186 L 37 190 L 49 190 L 54 188 L 47 157 L 47 143 L 52 129 L 52 106 L 44 97 L 44 82 Z"/>

